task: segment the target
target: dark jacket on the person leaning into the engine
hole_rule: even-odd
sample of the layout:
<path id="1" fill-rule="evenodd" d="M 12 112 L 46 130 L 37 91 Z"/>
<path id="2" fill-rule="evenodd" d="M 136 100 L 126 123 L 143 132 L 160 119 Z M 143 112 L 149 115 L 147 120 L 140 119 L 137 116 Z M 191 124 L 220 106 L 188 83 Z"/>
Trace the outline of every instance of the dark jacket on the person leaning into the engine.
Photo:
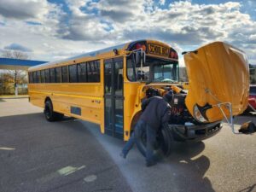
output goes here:
<path id="1" fill-rule="evenodd" d="M 160 128 L 160 125 L 168 123 L 171 114 L 169 103 L 160 96 L 145 99 L 142 102 L 142 110 L 140 119 L 156 130 Z"/>

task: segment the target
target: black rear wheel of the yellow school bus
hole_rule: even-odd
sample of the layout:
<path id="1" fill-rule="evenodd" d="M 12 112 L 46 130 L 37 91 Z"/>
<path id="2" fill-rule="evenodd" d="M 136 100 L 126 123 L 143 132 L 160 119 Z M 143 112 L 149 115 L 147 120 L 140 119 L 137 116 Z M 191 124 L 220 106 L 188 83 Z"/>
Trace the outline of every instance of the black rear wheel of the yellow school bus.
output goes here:
<path id="1" fill-rule="evenodd" d="M 53 110 L 53 105 L 50 100 L 47 100 L 44 104 L 44 116 L 45 119 L 48 121 L 56 121 L 56 120 L 61 120 L 63 119 L 63 114 L 62 113 L 57 113 Z"/>

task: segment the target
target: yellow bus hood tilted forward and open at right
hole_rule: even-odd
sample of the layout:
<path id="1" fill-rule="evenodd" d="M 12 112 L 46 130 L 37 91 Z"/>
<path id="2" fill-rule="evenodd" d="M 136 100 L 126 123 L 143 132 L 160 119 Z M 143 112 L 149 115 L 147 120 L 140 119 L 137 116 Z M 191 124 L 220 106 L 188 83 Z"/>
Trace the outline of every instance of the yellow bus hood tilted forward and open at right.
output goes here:
<path id="1" fill-rule="evenodd" d="M 232 104 L 232 115 L 247 108 L 249 93 L 249 69 L 247 55 L 230 44 L 214 42 L 184 55 L 189 77 L 186 106 L 195 119 L 200 112 L 207 122 L 224 119 L 216 106 L 219 102 Z M 230 112 L 225 106 L 224 113 Z"/>

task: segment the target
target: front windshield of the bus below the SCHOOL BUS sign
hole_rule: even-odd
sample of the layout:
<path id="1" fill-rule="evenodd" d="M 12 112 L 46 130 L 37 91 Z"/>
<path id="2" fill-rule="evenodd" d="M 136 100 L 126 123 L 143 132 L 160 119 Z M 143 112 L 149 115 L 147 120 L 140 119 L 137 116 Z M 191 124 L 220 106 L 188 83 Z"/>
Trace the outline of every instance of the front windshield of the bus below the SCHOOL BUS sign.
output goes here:
<path id="1" fill-rule="evenodd" d="M 131 55 L 127 58 L 127 77 L 130 81 L 174 83 L 178 81 L 177 61 L 147 56 L 141 68 Z"/>

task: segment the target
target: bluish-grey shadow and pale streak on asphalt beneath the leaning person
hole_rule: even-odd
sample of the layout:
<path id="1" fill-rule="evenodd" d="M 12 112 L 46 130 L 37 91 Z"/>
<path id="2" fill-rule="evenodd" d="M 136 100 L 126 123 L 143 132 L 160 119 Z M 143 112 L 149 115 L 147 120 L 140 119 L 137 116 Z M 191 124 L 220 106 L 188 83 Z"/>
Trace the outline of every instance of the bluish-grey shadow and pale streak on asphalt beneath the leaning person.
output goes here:
<path id="1" fill-rule="evenodd" d="M 211 181 L 205 177 L 210 160 L 201 155 L 205 149 L 202 142 L 174 143 L 172 154 L 168 158 L 160 160 L 155 166 L 146 167 L 137 146 L 131 149 L 124 160 L 119 157 L 124 143 L 116 138 L 103 136 L 98 131 L 92 132 L 112 155 L 134 191 L 214 191 Z"/>

